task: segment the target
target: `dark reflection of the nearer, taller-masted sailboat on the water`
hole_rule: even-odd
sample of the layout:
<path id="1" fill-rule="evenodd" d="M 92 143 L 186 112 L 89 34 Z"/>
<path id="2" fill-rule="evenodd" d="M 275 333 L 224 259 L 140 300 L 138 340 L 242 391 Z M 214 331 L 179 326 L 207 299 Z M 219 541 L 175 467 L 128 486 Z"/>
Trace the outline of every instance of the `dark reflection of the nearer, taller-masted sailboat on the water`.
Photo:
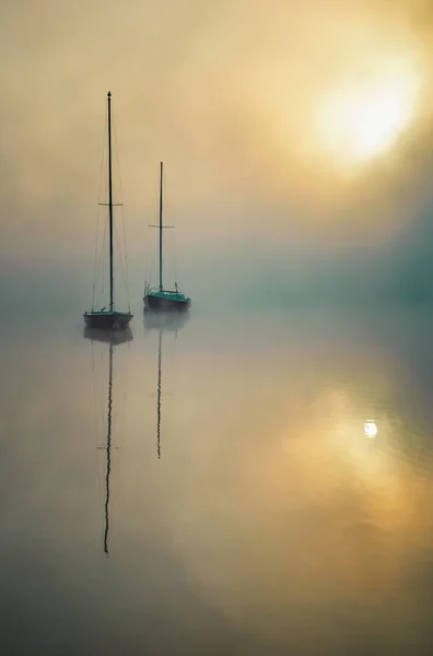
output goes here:
<path id="1" fill-rule="evenodd" d="M 112 412 L 113 412 L 113 353 L 114 347 L 129 342 L 133 339 L 130 328 L 125 330 L 101 330 L 84 328 L 84 337 L 92 341 L 101 341 L 109 344 L 109 364 L 108 364 L 108 411 L 107 411 L 107 442 L 105 448 L 107 454 L 106 473 L 105 473 L 105 500 L 104 500 L 104 553 L 108 558 L 108 541 L 109 541 L 109 494 L 110 494 L 110 476 L 112 476 Z"/>

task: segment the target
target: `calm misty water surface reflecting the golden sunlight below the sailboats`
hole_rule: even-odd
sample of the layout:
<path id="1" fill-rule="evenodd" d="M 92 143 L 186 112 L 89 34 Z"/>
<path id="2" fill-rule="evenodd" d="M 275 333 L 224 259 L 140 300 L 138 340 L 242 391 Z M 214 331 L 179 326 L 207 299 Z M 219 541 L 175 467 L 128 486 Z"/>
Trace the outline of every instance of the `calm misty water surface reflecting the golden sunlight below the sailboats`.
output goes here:
<path id="1" fill-rule="evenodd" d="M 2 328 L 2 653 L 430 654 L 433 312 L 132 329 L 107 450 L 109 343 Z"/>

